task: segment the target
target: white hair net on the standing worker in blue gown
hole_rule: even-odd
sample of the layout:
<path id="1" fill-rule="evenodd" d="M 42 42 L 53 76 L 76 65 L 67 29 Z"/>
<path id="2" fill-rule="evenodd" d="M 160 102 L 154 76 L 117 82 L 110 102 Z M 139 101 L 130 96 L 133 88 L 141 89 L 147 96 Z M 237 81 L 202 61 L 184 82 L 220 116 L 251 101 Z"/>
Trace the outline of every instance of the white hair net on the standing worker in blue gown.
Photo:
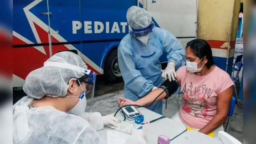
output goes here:
<path id="1" fill-rule="evenodd" d="M 152 22 L 151 14 L 144 8 L 132 6 L 128 9 L 126 18 L 131 28 L 140 30 L 146 28 Z"/>

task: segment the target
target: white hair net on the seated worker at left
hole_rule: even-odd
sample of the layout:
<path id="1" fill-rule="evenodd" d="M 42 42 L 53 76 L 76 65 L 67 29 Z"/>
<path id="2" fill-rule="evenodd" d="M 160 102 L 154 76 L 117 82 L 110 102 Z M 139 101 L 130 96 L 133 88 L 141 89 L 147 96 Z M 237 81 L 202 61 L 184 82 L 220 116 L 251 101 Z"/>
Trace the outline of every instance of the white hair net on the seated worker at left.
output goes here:
<path id="1" fill-rule="evenodd" d="M 59 52 L 50 57 L 46 62 L 60 62 L 87 69 L 86 64 L 73 52 Z M 24 92 L 33 98 L 40 99 L 44 96 L 66 96 L 68 81 L 71 78 L 81 78 L 84 73 L 66 68 L 44 66 L 28 74 L 23 85 Z"/>

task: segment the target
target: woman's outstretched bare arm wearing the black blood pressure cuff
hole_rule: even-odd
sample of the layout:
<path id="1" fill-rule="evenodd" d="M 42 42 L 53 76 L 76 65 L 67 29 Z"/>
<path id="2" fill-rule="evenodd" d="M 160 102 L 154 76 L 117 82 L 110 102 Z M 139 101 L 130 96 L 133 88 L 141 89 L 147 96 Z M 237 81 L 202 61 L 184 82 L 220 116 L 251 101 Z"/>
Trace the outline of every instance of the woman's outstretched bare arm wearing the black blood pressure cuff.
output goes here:
<path id="1" fill-rule="evenodd" d="M 180 85 L 180 78 L 178 78 L 178 76 L 176 77 L 179 85 Z M 143 98 L 140 98 L 139 100 L 133 102 L 132 100 L 128 100 L 125 98 L 120 98 L 120 100 L 122 102 L 118 102 L 118 106 L 124 106 L 124 105 L 128 105 L 128 104 L 136 104 L 139 106 L 145 106 L 146 104 L 151 104 L 153 102 L 153 100 L 160 94 L 162 93 L 164 90 L 162 88 L 157 88 L 155 90 L 152 90 L 152 92 L 150 92 L 149 94 L 147 94 L 146 96 L 144 96 Z M 163 92 L 156 100 L 162 100 L 166 97 L 166 92 Z"/>

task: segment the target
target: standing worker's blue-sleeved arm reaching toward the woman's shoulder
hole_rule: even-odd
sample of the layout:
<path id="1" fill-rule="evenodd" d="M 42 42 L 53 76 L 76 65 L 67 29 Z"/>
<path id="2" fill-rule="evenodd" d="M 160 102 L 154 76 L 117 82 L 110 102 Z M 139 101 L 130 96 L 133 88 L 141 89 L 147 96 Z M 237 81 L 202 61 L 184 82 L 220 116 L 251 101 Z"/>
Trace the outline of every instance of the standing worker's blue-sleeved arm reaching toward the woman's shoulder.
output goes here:
<path id="1" fill-rule="evenodd" d="M 181 66 L 184 66 L 186 58 L 180 41 L 167 30 L 162 28 L 158 28 L 158 30 L 163 50 L 167 53 L 168 62 L 174 62 L 176 70 Z"/>

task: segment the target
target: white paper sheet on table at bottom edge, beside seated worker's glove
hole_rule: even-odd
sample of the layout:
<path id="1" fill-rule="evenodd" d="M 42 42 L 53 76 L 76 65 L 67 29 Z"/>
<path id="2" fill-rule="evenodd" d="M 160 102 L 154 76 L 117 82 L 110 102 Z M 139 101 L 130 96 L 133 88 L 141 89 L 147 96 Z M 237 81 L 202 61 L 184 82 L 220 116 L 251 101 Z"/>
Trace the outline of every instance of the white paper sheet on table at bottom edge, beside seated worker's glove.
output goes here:
<path id="1" fill-rule="evenodd" d="M 129 134 L 123 132 L 118 132 L 116 130 L 107 131 L 107 144 L 125 144 Z"/>

